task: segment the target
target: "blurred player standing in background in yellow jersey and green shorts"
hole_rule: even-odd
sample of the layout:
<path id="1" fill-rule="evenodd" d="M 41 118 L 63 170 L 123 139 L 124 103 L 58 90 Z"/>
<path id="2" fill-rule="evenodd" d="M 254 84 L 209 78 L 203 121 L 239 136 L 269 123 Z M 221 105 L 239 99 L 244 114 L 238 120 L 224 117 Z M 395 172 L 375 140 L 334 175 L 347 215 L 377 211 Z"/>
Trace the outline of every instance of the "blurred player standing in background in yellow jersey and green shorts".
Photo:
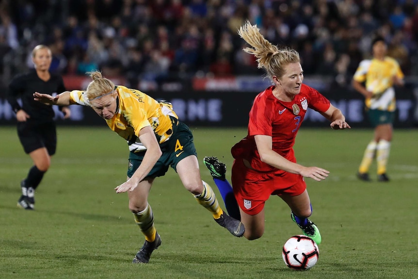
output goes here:
<path id="1" fill-rule="evenodd" d="M 393 85 L 404 84 L 403 73 L 398 62 L 386 56 L 387 46 L 383 37 L 376 36 L 371 46 L 373 58 L 360 62 L 352 83 L 354 89 L 366 98 L 367 114 L 374 127 L 374 138 L 364 152 L 357 177 L 370 181 L 369 168 L 373 158 L 376 158 L 378 181 L 389 181 L 386 165 L 396 110 Z"/>

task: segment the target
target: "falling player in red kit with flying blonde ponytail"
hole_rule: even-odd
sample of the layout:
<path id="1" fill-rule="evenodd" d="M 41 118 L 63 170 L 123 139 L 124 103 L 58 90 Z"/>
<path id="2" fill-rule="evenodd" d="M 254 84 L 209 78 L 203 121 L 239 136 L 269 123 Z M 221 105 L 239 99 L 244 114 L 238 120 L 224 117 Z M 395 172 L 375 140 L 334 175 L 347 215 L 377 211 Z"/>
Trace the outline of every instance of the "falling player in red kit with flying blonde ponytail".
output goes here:
<path id="1" fill-rule="evenodd" d="M 312 207 L 304 177 L 322 181 L 329 171 L 297 164 L 293 145 L 308 108 L 321 113 L 335 130 L 350 125 L 327 98 L 303 84 L 304 71 L 296 50 L 278 49 L 249 22 L 238 33 L 251 46 L 244 51 L 256 56 L 258 67 L 266 71 L 273 83 L 254 99 L 248 134 L 231 149 L 235 159 L 232 189 L 245 226 L 244 237 L 253 240 L 263 235 L 264 205 L 275 195 L 288 204 L 292 220 L 303 233 L 320 244 L 320 231 L 308 219 Z M 222 193 L 228 189 L 225 167 L 214 157 L 206 157 L 204 162 L 220 191 L 223 189 L 222 196 L 228 197 Z"/>

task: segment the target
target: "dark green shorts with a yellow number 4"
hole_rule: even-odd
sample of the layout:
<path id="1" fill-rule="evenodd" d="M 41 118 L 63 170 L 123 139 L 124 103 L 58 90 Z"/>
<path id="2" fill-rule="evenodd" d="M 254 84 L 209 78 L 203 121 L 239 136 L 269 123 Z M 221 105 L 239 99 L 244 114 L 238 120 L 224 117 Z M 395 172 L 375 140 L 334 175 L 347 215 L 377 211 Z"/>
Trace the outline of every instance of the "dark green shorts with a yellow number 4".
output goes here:
<path id="1" fill-rule="evenodd" d="M 174 133 L 170 139 L 160 144 L 162 155 L 146 176 L 147 178 L 155 178 L 165 175 L 169 166 L 177 171 L 177 164 L 182 159 L 190 155 L 197 157 L 196 148 L 193 143 L 193 134 L 189 127 L 178 121 L 178 125 L 173 130 Z M 144 155 L 145 151 L 136 153 L 131 151 L 129 153 L 128 177 L 132 177 L 133 173 L 142 163 Z"/>

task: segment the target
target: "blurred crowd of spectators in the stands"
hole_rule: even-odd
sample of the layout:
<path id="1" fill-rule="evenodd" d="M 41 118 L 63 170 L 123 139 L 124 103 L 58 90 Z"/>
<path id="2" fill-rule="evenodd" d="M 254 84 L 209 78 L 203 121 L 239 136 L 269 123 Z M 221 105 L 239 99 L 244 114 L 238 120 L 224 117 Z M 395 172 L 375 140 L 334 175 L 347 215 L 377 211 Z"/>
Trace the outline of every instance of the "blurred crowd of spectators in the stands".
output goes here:
<path id="1" fill-rule="evenodd" d="M 51 48 L 52 71 L 132 84 L 259 74 L 237 34 L 248 19 L 297 49 L 305 75 L 350 82 L 375 33 L 418 75 L 418 0 L 1 0 L 0 17 L 0 74 L 32 66 L 38 44 Z"/>

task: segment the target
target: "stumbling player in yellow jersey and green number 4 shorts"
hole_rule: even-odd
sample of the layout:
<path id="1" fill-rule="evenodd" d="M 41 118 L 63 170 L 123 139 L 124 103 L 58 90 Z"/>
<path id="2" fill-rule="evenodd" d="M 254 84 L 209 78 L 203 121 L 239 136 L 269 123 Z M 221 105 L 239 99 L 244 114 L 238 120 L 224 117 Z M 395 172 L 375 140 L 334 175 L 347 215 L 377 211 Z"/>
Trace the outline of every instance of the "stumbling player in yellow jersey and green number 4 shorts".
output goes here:
<path id="1" fill-rule="evenodd" d="M 157 101 L 136 89 L 115 86 L 100 72 L 92 72 L 90 76 L 93 81 L 85 91 L 65 91 L 56 97 L 35 92 L 33 97 L 45 104 L 89 106 L 106 120 L 111 130 L 127 140 L 128 178 L 115 190 L 116 193 L 128 192 L 129 210 L 145 235 L 144 246 L 132 262 L 148 263 L 151 253 L 161 245 L 148 193 L 154 179 L 163 176 L 169 166 L 219 225 L 241 237 L 244 226 L 224 213 L 211 187 L 202 181 L 192 132 L 178 120 L 171 104 Z"/>

